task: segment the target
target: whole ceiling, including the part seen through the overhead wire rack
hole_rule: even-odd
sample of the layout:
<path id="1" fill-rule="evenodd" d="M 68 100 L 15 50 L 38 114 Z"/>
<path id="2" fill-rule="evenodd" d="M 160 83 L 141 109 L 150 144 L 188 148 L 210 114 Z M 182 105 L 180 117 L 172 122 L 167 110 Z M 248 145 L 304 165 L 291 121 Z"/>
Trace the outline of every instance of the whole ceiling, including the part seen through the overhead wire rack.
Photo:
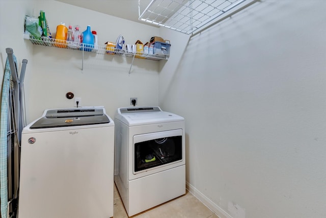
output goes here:
<path id="1" fill-rule="evenodd" d="M 0 0 L 1 1 L 1 0 Z M 199 32 L 214 24 L 221 15 L 239 9 L 247 0 L 56 0 L 77 7 L 123 19 L 146 23 L 153 27 L 167 27 L 182 33 Z M 259 0 L 250 0 L 256 2 Z M 250 5 L 252 3 L 247 4 Z M 140 4 L 140 5 L 139 5 Z M 246 7 L 247 7 L 246 6 Z M 241 6 L 242 7 L 242 6 Z M 243 7 L 242 7 L 243 8 Z M 228 12 L 228 13 L 226 13 Z M 225 14 L 226 13 L 226 14 Z M 139 20 L 139 14 L 142 14 Z"/>

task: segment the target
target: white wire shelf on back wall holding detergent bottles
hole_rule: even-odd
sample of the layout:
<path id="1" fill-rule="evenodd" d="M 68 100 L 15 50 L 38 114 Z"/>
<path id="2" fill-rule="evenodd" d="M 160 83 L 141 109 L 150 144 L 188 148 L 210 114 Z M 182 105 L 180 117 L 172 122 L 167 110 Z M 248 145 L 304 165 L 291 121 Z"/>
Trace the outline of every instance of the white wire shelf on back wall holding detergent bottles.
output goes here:
<path id="1" fill-rule="evenodd" d="M 140 59 L 148 59 L 148 60 L 168 60 L 169 56 L 163 55 L 152 55 L 152 54 L 144 54 L 140 52 L 132 53 L 128 52 L 127 50 L 123 49 L 116 49 L 113 47 L 107 48 L 106 46 L 94 45 L 90 44 L 83 44 L 78 42 L 68 42 L 66 40 L 60 39 L 52 39 L 46 37 L 35 38 L 32 35 L 28 35 L 27 37 L 33 44 L 35 45 L 43 45 L 43 46 L 50 46 L 50 47 L 60 47 L 62 49 L 71 49 L 77 51 L 85 51 L 85 52 L 92 52 L 96 54 L 107 54 L 107 55 L 116 55 L 116 56 L 124 56 L 124 57 L 133 57 L 140 58 Z"/>

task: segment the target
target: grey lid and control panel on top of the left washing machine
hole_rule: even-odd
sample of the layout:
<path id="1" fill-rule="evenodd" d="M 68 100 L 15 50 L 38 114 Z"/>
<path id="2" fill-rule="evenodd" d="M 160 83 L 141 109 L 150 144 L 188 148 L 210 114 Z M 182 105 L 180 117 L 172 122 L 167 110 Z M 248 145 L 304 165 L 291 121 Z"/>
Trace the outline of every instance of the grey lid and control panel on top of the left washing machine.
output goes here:
<path id="1" fill-rule="evenodd" d="M 43 117 L 38 119 L 30 128 L 41 129 L 107 123 L 110 123 L 110 119 L 103 108 L 63 108 L 45 110 Z"/>

